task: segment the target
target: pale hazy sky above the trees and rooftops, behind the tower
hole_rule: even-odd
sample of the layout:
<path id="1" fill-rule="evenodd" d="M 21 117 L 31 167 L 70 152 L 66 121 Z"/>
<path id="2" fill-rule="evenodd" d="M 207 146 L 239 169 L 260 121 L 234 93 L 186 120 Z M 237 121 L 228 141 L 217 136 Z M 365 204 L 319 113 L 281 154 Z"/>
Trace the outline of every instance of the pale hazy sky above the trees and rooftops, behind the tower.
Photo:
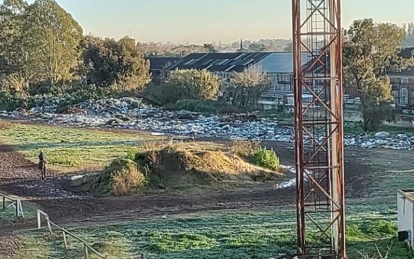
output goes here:
<path id="1" fill-rule="evenodd" d="M 31 3 L 33 0 L 30 0 Z M 2 2 L 0 0 L 0 2 Z M 291 0 L 57 0 L 84 32 L 190 43 L 290 38 Z M 305 1 L 303 1 L 305 2 Z M 342 22 L 414 21 L 414 0 L 342 0 Z"/>

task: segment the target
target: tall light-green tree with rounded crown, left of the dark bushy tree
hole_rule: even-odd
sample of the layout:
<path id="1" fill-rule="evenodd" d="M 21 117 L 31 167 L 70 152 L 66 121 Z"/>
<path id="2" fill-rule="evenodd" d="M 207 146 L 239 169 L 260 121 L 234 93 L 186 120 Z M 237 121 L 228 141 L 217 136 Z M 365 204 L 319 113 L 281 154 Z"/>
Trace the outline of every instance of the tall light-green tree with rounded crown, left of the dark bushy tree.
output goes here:
<path id="1" fill-rule="evenodd" d="M 30 69 L 50 86 L 72 77 L 79 62 L 83 30 L 55 0 L 36 0 L 24 28 L 30 44 Z"/>

